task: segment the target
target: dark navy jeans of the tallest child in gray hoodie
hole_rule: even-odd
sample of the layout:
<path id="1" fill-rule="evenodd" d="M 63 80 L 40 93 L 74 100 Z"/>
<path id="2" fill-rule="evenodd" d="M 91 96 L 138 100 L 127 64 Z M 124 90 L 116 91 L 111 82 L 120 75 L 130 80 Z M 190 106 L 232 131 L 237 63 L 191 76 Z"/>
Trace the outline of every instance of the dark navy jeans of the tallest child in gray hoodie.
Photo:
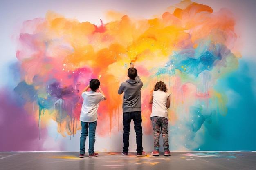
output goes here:
<path id="1" fill-rule="evenodd" d="M 141 112 L 124 112 L 123 113 L 123 152 L 128 153 L 129 147 L 129 135 L 130 135 L 130 123 L 131 120 L 134 122 L 134 130 L 136 132 L 136 143 L 137 143 L 137 153 L 141 153 L 142 148 L 142 119 Z"/>

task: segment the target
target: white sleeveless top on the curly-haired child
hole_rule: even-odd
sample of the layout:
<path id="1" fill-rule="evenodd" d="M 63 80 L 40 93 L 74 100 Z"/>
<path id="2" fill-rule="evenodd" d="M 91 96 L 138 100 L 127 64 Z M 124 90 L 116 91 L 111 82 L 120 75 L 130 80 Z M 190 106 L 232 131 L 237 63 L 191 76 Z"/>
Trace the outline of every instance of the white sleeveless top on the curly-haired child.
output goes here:
<path id="1" fill-rule="evenodd" d="M 165 117 L 168 119 L 168 109 L 166 107 L 167 99 L 169 94 L 158 89 L 153 91 L 153 103 L 152 103 L 152 113 L 150 117 L 158 116 Z"/>

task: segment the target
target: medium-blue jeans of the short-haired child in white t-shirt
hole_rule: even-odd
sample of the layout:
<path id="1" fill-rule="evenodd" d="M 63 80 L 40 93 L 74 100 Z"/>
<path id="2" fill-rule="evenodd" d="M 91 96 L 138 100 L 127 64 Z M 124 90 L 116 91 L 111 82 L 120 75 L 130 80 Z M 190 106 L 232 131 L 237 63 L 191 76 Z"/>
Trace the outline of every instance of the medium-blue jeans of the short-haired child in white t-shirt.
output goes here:
<path id="1" fill-rule="evenodd" d="M 96 132 L 96 126 L 97 126 L 97 121 L 88 123 L 88 122 L 83 122 L 81 121 L 82 125 L 82 133 L 80 137 L 80 154 L 85 153 L 85 140 L 86 137 L 88 136 L 88 128 L 89 128 L 89 155 L 94 153 L 94 143 L 95 143 L 95 132 Z"/>

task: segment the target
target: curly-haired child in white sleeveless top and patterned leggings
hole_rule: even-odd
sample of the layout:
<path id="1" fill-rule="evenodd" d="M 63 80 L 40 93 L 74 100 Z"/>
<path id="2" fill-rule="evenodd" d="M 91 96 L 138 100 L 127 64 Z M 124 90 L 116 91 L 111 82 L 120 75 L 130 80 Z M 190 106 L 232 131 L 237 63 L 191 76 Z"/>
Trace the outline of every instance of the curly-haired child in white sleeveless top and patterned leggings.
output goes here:
<path id="1" fill-rule="evenodd" d="M 170 156 L 169 137 L 168 137 L 168 108 L 170 107 L 170 95 L 167 93 L 166 84 L 157 82 L 154 91 L 150 97 L 149 104 L 152 104 L 152 113 L 150 119 L 152 121 L 154 131 L 154 151 L 153 156 L 159 156 L 159 138 L 160 133 L 163 137 L 164 156 Z"/>

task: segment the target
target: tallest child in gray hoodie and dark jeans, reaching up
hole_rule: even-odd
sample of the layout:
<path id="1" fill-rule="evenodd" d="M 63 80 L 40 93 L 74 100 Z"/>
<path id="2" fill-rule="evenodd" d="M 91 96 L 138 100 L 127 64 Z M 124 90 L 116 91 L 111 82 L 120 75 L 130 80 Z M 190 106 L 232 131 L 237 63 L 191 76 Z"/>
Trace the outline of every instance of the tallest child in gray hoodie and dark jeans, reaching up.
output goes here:
<path id="1" fill-rule="evenodd" d="M 137 157 L 143 157 L 147 154 L 142 147 L 142 118 L 141 118 L 141 88 L 143 82 L 137 75 L 137 69 L 134 64 L 130 63 L 128 69 L 129 79 L 121 83 L 118 94 L 123 95 L 123 152 L 122 155 L 128 156 L 129 134 L 131 120 L 134 122 L 134 130 L 136 132 Z"/>

